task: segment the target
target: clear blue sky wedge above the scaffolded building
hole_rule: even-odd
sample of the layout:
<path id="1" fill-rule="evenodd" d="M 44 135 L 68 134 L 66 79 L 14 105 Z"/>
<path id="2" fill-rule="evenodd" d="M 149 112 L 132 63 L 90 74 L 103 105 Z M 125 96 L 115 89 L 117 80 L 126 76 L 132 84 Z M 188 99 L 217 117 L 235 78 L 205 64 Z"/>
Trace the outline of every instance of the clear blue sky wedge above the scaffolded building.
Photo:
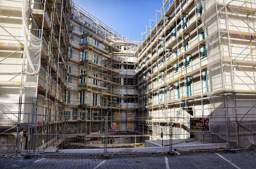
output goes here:
<path id="1" fill-rule="evenodd" d="M 156 18 L 156 10 L 163 0 L 74 0 L 90 14 L 104 22 L 124 37 L 141 39 L 150 19 Z"/>

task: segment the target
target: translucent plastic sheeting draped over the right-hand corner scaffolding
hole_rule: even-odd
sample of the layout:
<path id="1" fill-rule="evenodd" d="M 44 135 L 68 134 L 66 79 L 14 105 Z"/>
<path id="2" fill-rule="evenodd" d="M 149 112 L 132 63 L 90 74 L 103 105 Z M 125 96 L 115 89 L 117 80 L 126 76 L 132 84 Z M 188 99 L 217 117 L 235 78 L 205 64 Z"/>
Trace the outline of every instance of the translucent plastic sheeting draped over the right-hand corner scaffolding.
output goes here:
<path id="1" fill-rule="evenodd" d="M 244 108 L 237 108 L 240 100 L 236 100 L 235 91 L 256 90 L 254 81 L 254 68 L 237 66 L 234 60 L 253 61 L 256 57 L 253 37 L 249 39 L 246 33 L 255 33 L 255 12 L 244 12 L 242 7 L 255 8 L 254 0 L 245 2 L 236 0 L 197 0 L 198 6 L 202 4 L 202 23 L 206 39 L 208 57 L 208 100 L 210 119 L 210 132 L 223 140 L 239 143 L 239 147 L 250 147 L 256 143 L 255 113 L 246 114 L 254 103 L 245 102 Z M 228 5 L 227 5 L 228 4 Z M 236 6 L 234 13 L 229 6 Z M 240 10 L 240 11 L 239 11 Z M 240 17 L 239 17 L 240 16 Z M 249 26 L 248 26 L 249 25 Z M 232 32 L 242 32 L 244 35 L 232 35 Z M 239 33 L 238 33 L 239 34 Z M 252 77 L 250 77 L 252 76 Z M 253 81 L 254 78 L 254 81 Z M 227 94 L 224 94 L 227 93 Z M 247 95 L 250 98 L 250 95 Z M 246 98 L 248 100 L 248 98 Z M 254 100 L 255 101 L 255 100 Z M 238 115 L 240 114 L 240 115 Z M 237 123 L 244 120 L 246 126 Z M 247 129 L 246 129 L 247 128 Z"/>

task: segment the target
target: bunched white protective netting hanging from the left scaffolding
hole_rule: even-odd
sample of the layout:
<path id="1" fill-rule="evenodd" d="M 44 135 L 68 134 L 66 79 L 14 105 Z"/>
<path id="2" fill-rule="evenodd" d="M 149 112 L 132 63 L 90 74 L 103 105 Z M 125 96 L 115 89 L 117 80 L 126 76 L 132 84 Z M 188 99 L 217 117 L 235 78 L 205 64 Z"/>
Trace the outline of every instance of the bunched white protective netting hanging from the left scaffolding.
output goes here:
<path id="1" fill-rule="evenodd" d="M 28 0 L 22 0 L 22 24 L 24 31 L 24 54 L 28 60 L 28 75 L 38 75 L 41 65 L 42 40 L 33 35 L 28 26 L 29 24 L 29 4 Z M 44 23 L 43 23 L 44 24 Z"/>

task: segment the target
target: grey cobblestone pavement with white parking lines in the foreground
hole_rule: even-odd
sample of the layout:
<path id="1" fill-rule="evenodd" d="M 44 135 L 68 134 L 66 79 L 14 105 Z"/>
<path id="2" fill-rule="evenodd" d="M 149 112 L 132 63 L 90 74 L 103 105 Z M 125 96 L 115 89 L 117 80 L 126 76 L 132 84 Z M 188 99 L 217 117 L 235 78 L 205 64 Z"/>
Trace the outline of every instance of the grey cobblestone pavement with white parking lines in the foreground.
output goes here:
<path id="1" fill-rule="evenodd" d="M 0 169 L 256 169 L 256 150 L 180 152 L 110 155 L 104 160 L 101 155 L 45 155 L 24 157 L 0 157 Z"/>

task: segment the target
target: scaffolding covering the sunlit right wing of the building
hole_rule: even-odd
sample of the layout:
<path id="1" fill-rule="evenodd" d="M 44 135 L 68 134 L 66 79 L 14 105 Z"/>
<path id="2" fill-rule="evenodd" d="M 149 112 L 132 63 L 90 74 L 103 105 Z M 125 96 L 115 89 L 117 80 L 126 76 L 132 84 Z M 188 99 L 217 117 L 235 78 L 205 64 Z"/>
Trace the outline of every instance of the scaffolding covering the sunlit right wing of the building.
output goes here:
<path id="1" fill-rule="evenodd" d="M 220 140 L 234 142 L 233 147 L 255 143 L 255 119 L 250 111 L 254 104 L 241 106 L 240 115 L 236 106 L 237 100 L 246 102 L 240 100 L 251 99 L 255 93 L 254 15 L 254 0 L 166 0 L 156 10 L 156 19 L 142 33 L 136 62 L 138 111 L 150 117 L 140 126 L 152 140 L 160 138 L 161 128 L 166 136 L 170 134 L 169 117 L 173 124 L 180 124 L 172 124 L 180 139 L 191 138 L 190 118 L 207 117 L 211 134 Z M 247 125 L 241 127 L 243 120 Z M 235 130 L 230 128 L 232 122 L 238 124 Z M 204 139 L 204 134 L 193 137 Z"/>

